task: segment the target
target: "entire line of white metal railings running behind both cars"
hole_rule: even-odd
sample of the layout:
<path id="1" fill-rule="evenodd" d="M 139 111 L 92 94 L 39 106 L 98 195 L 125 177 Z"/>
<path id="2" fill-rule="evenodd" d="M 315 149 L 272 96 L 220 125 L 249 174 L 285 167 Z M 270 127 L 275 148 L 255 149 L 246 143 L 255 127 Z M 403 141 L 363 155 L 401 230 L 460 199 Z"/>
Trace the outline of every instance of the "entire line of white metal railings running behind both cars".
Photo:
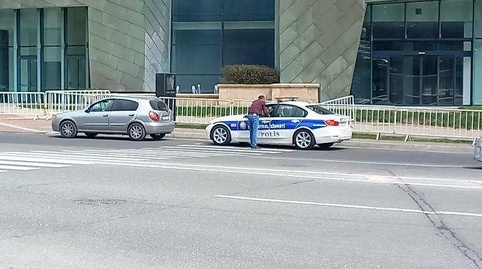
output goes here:
<path id="1" fill-rule="evenodd" d="M 84 109 L 113 96 L 153 96 L 152 93 L 119 94 L 103 90 L 0 92 L 0 114 L 39 116 Z M 246 114 L 253 100 L 161 98 L 173 109 L 176 123 L 207 124 L 221 116 Z M 425 137 L 477 139 L 482 136 L 482 110 L 354 105 L 353 96 L 322 102 L 322 107 L 349 116 L 354 132 Z"/>

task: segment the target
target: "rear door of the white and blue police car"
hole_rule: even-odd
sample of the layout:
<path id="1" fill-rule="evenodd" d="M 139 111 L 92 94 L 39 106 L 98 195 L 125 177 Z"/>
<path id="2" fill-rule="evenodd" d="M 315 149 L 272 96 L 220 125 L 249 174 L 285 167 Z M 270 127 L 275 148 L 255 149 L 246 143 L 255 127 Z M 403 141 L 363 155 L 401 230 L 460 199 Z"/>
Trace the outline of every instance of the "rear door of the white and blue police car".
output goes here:
<path id="1" fill-rule="evenodd" d="M 272 132 L 276 132 L 279 143 L 291 144 L 293 133 L 301 124 L 307 112 L 294 105 L 279 104 L 276 116 L 271 120 Z"/>

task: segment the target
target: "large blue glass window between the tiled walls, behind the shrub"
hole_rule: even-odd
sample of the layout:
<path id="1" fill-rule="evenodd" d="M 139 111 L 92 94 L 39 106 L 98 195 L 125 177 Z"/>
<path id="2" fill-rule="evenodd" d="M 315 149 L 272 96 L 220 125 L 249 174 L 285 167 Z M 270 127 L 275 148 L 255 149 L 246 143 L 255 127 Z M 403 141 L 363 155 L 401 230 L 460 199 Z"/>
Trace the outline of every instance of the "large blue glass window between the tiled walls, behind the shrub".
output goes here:
<path id="1" fill-rule="evenodd" d="M 275 67 L 275 0 L 173 0 L 171 71 L 181 93 L 213 93 L 221 68 Z"/>

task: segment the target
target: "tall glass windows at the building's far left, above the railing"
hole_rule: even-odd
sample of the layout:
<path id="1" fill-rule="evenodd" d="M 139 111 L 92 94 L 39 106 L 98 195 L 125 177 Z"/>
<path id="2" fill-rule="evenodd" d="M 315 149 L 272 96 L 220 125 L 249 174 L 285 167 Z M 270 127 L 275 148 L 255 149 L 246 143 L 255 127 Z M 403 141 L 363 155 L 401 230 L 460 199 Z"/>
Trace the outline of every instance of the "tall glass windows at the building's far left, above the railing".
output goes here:
<path id="1" fill-rule="evenodd" d="M 0 10 L 0 91 L 89 88 L 87 8 Z"/>

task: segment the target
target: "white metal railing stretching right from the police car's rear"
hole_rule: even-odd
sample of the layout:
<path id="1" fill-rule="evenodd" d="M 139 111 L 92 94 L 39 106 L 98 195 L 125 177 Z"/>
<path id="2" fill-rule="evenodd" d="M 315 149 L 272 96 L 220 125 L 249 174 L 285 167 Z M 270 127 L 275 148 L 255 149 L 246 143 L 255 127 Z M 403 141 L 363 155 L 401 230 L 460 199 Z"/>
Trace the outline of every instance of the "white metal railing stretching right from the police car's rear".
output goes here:
<path id="1" fill-rule="evenodd" d="M 322 105 L 350 116 L 354 132 L 421 137 L 478 139 L 482 136 L 482 111 L 410 108 L 375 105 Z"/>

